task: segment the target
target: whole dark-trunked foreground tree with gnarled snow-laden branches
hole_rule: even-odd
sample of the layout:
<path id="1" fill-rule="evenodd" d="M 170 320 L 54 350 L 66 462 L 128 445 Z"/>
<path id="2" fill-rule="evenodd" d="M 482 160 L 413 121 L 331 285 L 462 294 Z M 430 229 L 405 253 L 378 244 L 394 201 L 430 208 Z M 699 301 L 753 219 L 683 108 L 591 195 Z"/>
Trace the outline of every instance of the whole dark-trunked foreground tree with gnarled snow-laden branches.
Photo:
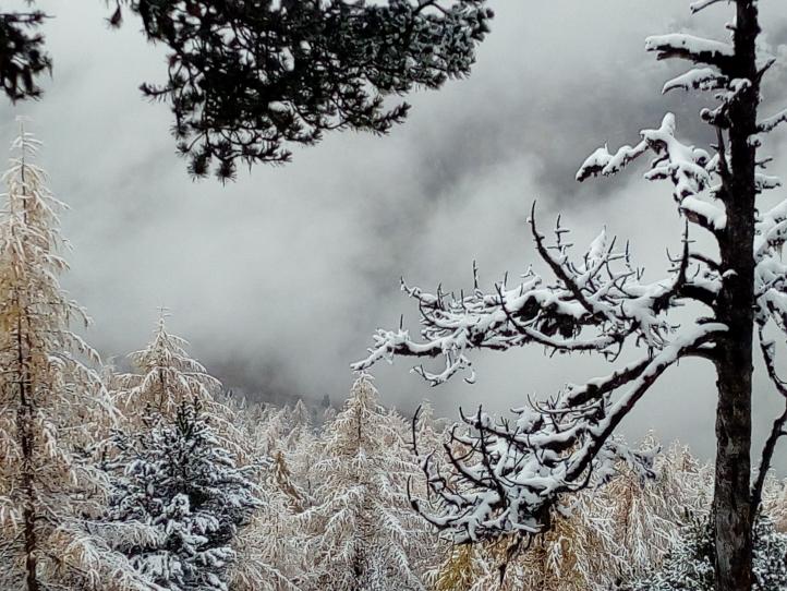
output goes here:
<path id="1" fill-rule="evenodd" d="M 667 277 L 646 282 L 628 246 L 616 246 L 605 232 L 572 256 L 567 229 L 558 220 L 554 241 L 547 240 L 533 208 L 531 232 L 552 278 L 531 268 L 519 285 L 503 281 L 484 292 L 476 276 L 473 289 L 459 297 L 403 286 L 421 310 L 422 338 L 402 327 L 380 329 L 370 355 L 354 365 L 366 370 L 395 355 L 441 358 L 445 366 L 436 373 L 416 367 L 437 385 L 471 371 L 469 354 L 476 349 L 536 345 L 618 361 L 609 375 L 568 385 L 549 400 L 520 409 L 512 420 L 482 411 L 464 418 L 473 433 L 460 436 L 461 443 L 472 453 L 451 459 L 459 483 L 426 470 L 444 503 L 431 519 L 455 532 L 458 541 L 543 532 L 564 493 L 586 486 L 592 473 L 610 473 L 619 459 L 647 474 L 651 458 L 623 446 L 616 430 L 665 371 L 698 358 L 717 373 L 715 584 L 719 590 L 751 589 L 753 516 L 787 421 L 786 413 L 774 424 L 752 479 L 754 338 L 771 382 L 787 395 L 776 374 L 774 340 L 774 333 L 784 339 L 787 329 L 787 267 L 780 260 L 787 202 L 768 207 L 758 198 L 780 184 L 763 171 L 768 159 L 759 152 L 766 134 L 787 121 L 787 111 L 759 114 L 761 83 L 775 58 L 758 46 L 758 2 L 700 0 L 691 10 L 722 4 L 732 5 L 728 40 L 687 34 L 646 39 L 646 49 L 658 59 L 691 64 L 667 82 L 664 92 L 699 91 L 715 101 L 700 113 L 715 132 L 712 149 L 681 142 L 676 118 L 667 113 L 657 126 L 642 131 L 633 147 L 615 153 L 600 148 L 577 174 L 579 181 L 609 176 L 652 156 L 645 178 L 671 185 L 686 224 Z M 706 234 L 710 248 L 694 242 L 698 232 Z M 697 314 L 679 323 L 673 311 L 685 304 Z"/>

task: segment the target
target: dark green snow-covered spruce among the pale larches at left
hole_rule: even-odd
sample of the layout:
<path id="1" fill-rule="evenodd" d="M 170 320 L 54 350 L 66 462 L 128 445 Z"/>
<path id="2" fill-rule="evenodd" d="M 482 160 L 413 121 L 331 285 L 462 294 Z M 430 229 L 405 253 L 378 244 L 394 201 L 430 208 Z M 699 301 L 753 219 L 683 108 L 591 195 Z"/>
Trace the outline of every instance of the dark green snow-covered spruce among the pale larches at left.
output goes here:
<path id="1" fill-rule="evenodd" d="M 107 518 L 121 533 L 113 545 L 162 589 L 227 591 L 233 538 L 259 504 L 255 468 L 237 466 L 198 401 L 181 401 L 171 421 L 149 423 L 149 431 L 113 438 Z"/>

